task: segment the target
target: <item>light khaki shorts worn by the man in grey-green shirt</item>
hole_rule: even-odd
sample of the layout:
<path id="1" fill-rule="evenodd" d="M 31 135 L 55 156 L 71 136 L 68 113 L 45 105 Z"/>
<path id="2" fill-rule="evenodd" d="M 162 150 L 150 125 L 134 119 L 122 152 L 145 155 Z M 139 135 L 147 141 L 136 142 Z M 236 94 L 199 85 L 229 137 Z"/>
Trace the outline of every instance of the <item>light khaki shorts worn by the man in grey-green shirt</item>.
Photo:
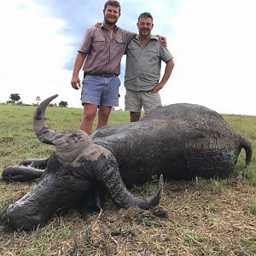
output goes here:
<path id="1" fill-rule="evenodd" d="M 153 94 L 151 91 L 134 91 L 126 89 L 125 111 L 141 112 L 143 108 L 147 114 L 160 106 L 162 105 L 159 92 Z"/>

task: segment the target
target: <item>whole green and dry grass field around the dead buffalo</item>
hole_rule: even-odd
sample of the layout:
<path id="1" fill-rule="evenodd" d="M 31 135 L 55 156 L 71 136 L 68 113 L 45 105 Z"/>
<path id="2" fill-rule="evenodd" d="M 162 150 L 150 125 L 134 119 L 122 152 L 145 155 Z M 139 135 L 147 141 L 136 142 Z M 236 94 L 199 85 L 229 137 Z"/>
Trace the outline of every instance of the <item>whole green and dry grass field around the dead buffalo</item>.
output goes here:
<path id="1" fill-rule="evenodd" d="M 0 174 L 4 166 L 26 158 L 45 158 L 53 146 L 38 141 L 32 129 L 33 107 L 0 105 Z M 47 108 L 55 130 L 79 127 L 81 109 Z M 251 140 L 256 152 L 256 116 L 224 115 Z M 129 114 L 114 111 L 110 124 L 129 122 Z M 119 209 L 108 201 L 102 212 L 70 210 L 47 224 L 25 232 L 6 223 L 9 204 L 35 183 L 0 180 L 0 255 L 256 255 L 256 157 L 244 169 L 241 152 L 227 179 L 169 181 L 160 206 L 150 210 Z M 241 181 L 236 179 L 243 172 Z M 151 195 L 155 183 L 132 191 Z"/>

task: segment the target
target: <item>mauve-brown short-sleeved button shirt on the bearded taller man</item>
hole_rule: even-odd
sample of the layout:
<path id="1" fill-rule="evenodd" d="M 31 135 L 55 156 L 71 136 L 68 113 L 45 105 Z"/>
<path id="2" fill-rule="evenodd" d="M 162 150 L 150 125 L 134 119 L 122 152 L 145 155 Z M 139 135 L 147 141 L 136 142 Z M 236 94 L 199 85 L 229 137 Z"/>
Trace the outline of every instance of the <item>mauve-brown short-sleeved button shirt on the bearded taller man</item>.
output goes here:
<path id="1" fill-rule="evenodd" d="M 127 44 L 136 34 L 118 26 L 110 38 L 108 30 L 91 27 L 85 32 L 79 52 L 87 54 L 83 70 L 85 73 L 120 73 L 120 61 Z"/>

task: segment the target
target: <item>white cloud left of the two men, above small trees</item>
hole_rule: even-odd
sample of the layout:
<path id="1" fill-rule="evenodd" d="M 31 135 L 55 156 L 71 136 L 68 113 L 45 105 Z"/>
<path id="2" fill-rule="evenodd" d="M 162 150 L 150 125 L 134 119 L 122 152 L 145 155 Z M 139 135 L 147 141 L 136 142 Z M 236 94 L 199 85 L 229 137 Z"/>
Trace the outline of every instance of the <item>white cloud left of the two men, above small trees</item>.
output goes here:
<path id="1" fill-rule="evenodd" d="M 71 52 L 71 39 L 61 34 L 64 21 L 47 16 L 32 1 L 18 3 L 5 3 L 0 13 L 1 102 L 11 93 L 20 93 L 26 103 L 36 102 L 36 96 L 44 99 L 58 93 L 57 102 L 80 106 L 79 95 L 72 96 L 71 73 L 63 69 Z M 76 98 L 78 102 L 72 103 Z"/>

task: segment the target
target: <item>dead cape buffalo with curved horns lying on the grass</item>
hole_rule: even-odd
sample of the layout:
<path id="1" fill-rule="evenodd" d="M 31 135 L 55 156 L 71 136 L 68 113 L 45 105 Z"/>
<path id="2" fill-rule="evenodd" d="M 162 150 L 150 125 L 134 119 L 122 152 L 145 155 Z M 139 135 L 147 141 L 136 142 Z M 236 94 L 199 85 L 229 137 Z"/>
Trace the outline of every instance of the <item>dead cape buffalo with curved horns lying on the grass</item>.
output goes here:
<path id="1" fill-rule="evenodd" d="M 102 127 L 89 137 L 84 131 L 54 131 L 44 120 L 51 96 L 37 108 L 33 125 L 42 143 L 55 145 L 47 160 L 23 160 L 3 170 L 4 180 L 39 183 L 7 209 L 9 224 L 29 230 L 43 224 L 60 208 L 89 198 L 99 205 L 102 188 L 120 207 L 148 208 L 158 204 L 168 179 L 226 177 L 236 166 L 241 148 L 246 165 L 251 144 L 218 113 L 193 104 L 173 104 L 148 113 L 137 123 Z M 43 174 L 43 175 L 42 175 Z M 126 186 L 160 177 L 148 199 L 137 198 Z"/>

